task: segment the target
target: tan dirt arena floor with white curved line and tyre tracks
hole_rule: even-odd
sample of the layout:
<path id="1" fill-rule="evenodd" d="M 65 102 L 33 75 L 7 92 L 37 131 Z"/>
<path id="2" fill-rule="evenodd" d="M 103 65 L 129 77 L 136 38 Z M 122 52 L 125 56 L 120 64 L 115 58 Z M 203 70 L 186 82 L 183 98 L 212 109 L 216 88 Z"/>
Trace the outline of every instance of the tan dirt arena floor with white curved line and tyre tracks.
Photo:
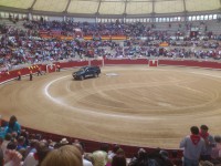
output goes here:
<path id="1" fill-rule="evenodd" d="M 104 66 L 97 79 L 62 71 L 0 85 L 2 118 L 32 128 L 137 146 L 178 148 L 192 125 L 221 134 L 221 71 Z"/>

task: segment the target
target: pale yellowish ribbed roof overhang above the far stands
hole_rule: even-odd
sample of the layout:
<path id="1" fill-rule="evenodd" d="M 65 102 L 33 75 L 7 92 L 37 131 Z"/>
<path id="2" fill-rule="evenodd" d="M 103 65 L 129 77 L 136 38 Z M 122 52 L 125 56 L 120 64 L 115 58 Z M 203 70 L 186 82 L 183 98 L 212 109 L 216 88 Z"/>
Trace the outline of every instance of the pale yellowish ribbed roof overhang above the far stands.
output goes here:
<path id="1" fill-rule="evenodd" d="M 169 17 L 221 13 L 221 0 L 1 0 L 0 10 L 86 18 Z"/>

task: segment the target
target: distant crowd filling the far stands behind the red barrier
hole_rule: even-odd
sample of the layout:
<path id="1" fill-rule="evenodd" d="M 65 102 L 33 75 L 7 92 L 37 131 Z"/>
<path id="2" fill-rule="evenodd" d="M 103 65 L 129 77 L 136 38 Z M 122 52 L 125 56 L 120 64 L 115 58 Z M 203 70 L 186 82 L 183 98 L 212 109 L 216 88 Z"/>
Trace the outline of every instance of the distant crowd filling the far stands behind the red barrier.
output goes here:
<path id="1" fill-rule="evenodd" d="M 59 61 L 76 58 L 172 58 L 172 59 L 221 59 L 219 40 L 209 35 L 189 38 L 185 32 L 158 31 L 144 23 L 80 23 L 60 21 L 27 21 L 25 29 L 0 25 L 0 66 Z M 125 41 L 84 40 L 73 38 L 42 38 L 41 31 L 61 31 L 71 35 L 78 29 L 84 35 L 126 35 Z M 167 43 L 168 46 L 161 46 Z"/>

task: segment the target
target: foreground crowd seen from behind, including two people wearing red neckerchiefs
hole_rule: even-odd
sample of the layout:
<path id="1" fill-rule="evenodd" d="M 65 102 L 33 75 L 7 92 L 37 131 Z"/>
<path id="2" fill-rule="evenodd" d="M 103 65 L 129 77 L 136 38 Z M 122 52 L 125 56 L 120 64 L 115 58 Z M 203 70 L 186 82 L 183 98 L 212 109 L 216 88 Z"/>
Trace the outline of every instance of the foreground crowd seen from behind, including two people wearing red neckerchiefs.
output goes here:
<path id="1" fill-rule="evenodd" d="M 45 139 L 22 129 L 15 116 L 1 126 L 0 166 L 219 166 L 221 136 L 212 136 L 207 125 L 192 126 L 180 142 L 183 157 L 177 151 L 139 148 L 128 157 L 117 144 L 101 143 L 94 152 L 85 152 L 78 139 Z"/>

